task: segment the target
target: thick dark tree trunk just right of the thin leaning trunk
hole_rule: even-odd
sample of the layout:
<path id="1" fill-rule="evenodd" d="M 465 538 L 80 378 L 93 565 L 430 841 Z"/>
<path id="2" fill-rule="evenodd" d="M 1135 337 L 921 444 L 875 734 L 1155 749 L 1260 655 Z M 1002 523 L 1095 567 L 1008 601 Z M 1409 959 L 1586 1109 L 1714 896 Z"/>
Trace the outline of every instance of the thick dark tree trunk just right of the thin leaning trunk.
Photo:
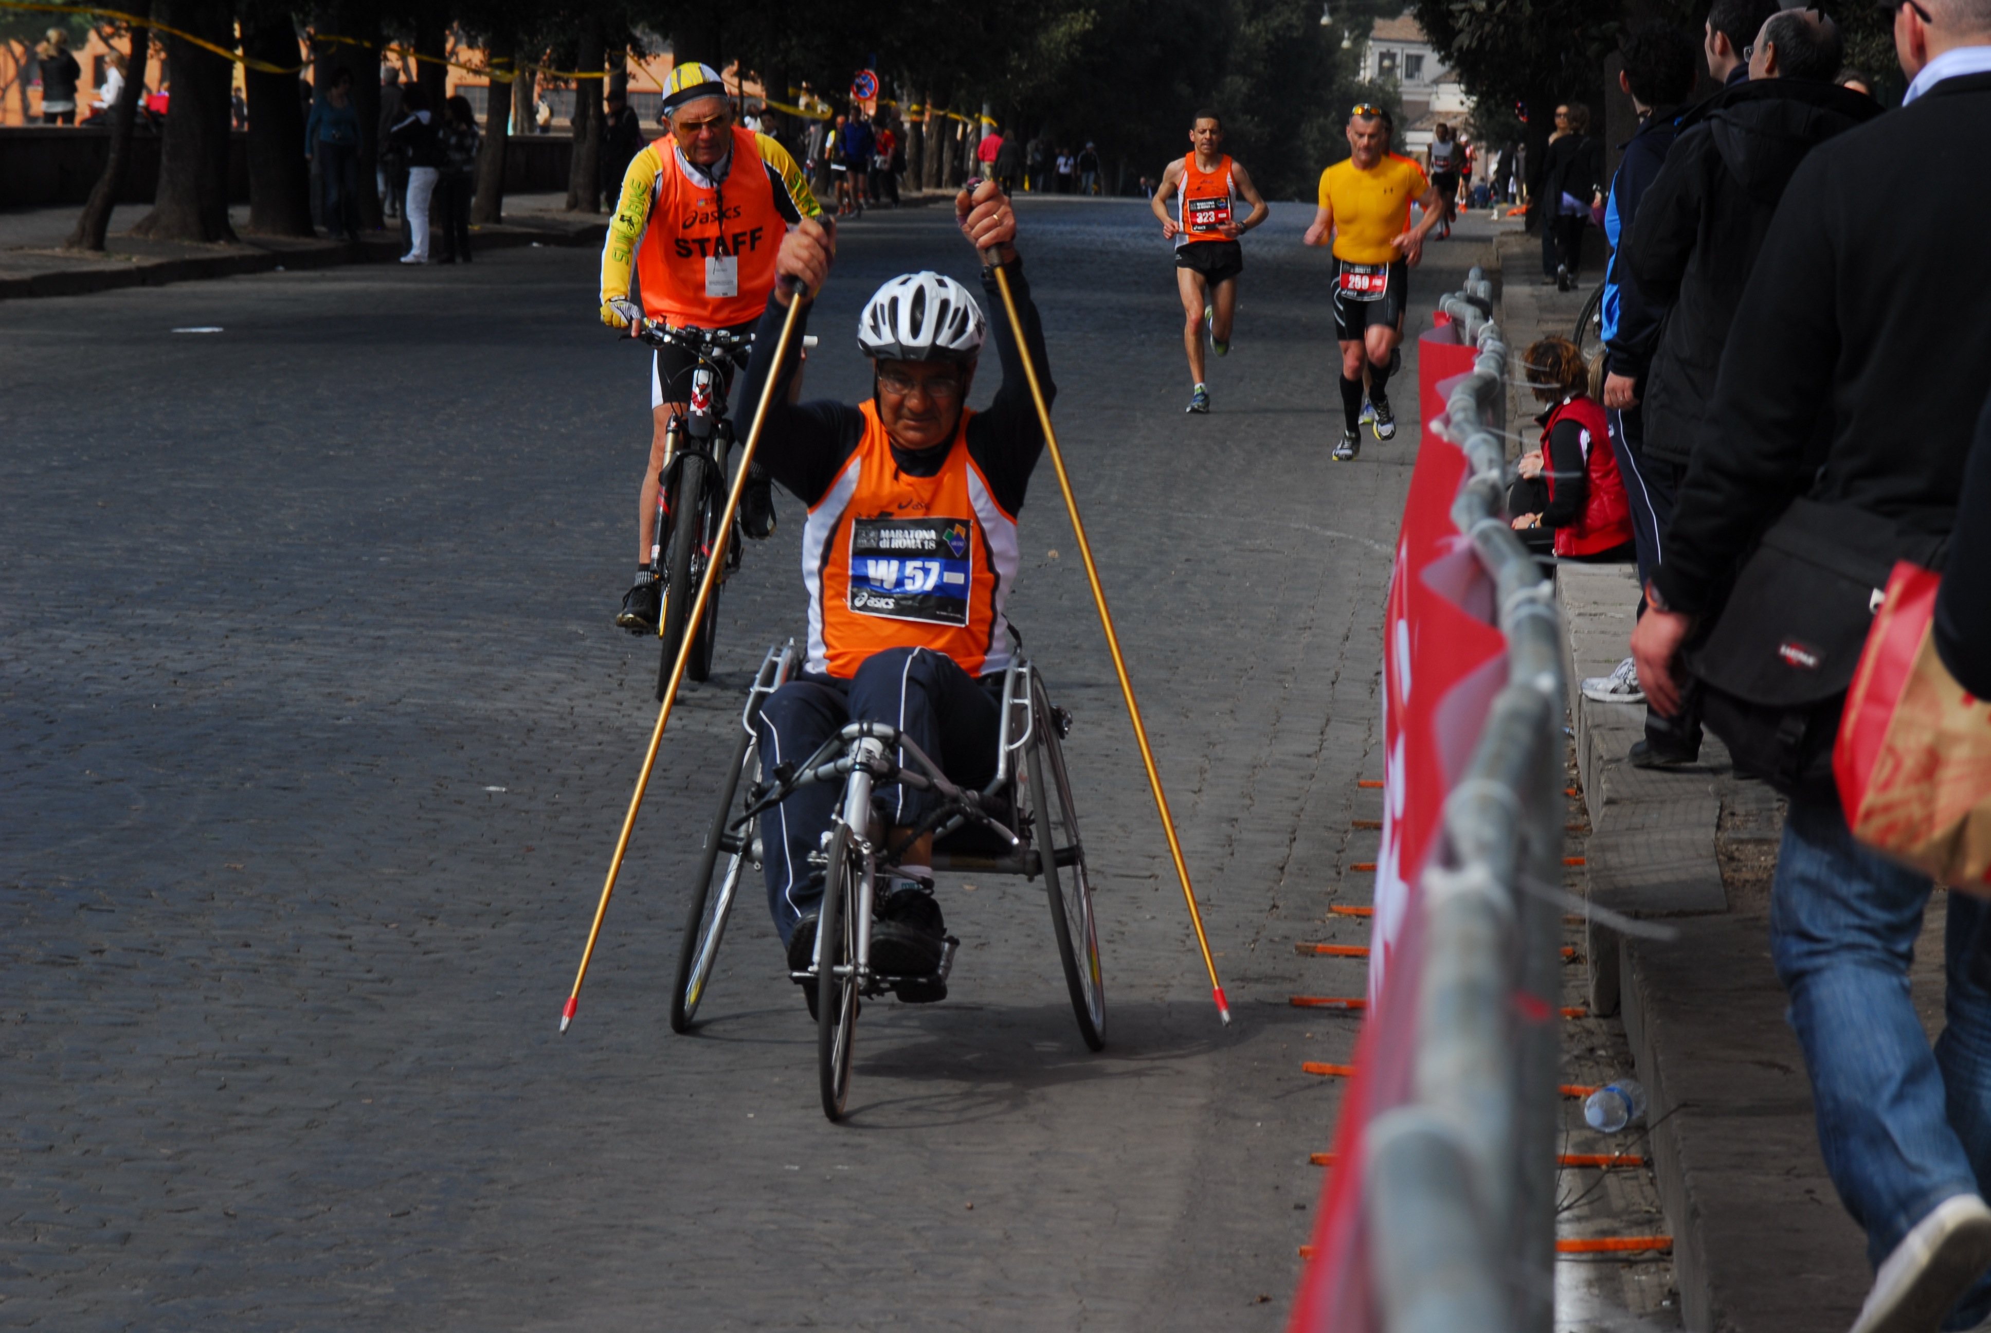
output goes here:
<path id="1" fill-rule="evenodd" d="M 173 6 L 175 26 L 223 50 L 235 46 L 229 6 L 191 0 Z M 233 241 L 229 225 L 229 88 L 235 68 L 185 38 L 165 38 L 173 102 L 159 141 L 159 191 L 131 235 L 161 241 Z M 303 135 L 301 135 L 303 137 Z"/>

